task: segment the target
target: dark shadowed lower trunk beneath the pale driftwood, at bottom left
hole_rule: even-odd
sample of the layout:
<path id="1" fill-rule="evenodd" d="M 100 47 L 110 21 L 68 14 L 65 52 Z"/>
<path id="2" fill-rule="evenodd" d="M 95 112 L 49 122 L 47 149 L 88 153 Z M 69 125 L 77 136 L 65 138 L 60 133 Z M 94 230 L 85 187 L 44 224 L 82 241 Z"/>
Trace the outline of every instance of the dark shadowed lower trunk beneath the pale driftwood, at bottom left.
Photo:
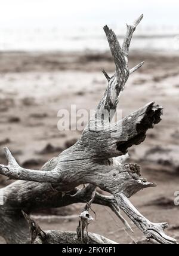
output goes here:
<path id="1" fill-rule="evenodd" d="M 7 243 L 30 243 L 29 226 L 21 214 L 21 209 L 29 214 L 40 209 L 86 203 L 91 199 L 94 190 L 95 186 L 89 184 L 84 189 L 75 188 L 61 193 L 54 190 L 50 183 L 16 181 L 2 188 L 4 205 L 0 205 L 0 234 Z M 95 191 L 93 203 L 108 206 L 113 211 L 116 200 L 113 196 L 104 196 Z M 119 211 L 115 211 L 115 214 L 122 220 Z"/>

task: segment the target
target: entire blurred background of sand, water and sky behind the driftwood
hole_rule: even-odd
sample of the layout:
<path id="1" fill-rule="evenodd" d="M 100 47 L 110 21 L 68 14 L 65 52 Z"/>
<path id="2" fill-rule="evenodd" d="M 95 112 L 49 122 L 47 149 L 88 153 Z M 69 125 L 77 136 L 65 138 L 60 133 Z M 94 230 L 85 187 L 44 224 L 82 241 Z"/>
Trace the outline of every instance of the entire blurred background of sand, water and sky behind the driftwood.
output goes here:
<path id="1" fill-rule="evenodd" d="M 75 130 L 75 116 L 70 118 L 72 130 L 57 129 L 58 110 L 70 111 L 75 104 L 77 110 L 90 111 L 103 96 L 107 81 L 101 70 L 115 71 L 103 26 L 112 28 L 122 44 L 125 24 L 144 14 L 132 38 L 129 66 L 143 60 L 145 64 L 129 77 L 118 107 L 124 117 L 155 101 L 163 106 L 163 117 L 141 145 L 129 149 L 128 161 L 140 163 L 143 176 L 158 183 L 131 201 L 149 220 L 168 221 L 168 234 L 177 237 L 179 2 L 0 0 L 0 4 L 0 161 L 6 162 L 3 147 L 8 146 L 21 166 L 32 169 L 40 169 L 81 134 Z M 8 184 L 0 176 L 0 187 Z M 33 214 L 43 228 L 74 231 L 81 208 L 78 204 Z M 133 224 L 134 234 L 128 235 L 112 212 L 103 206 L 93 208 L 98 218 L 90 231 L 121 243 L 143 238 Z"/>

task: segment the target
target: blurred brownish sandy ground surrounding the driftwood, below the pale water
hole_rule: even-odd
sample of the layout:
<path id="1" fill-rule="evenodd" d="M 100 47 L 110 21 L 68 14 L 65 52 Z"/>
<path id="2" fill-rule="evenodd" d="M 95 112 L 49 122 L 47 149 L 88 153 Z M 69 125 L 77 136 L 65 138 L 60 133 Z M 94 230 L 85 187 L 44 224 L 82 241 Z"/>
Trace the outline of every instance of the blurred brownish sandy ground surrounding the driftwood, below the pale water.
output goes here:
<path id="1" fill-rule="evenodd" d="M 149 220 L 179 227 L 179 206 L 173 203 L 174 191 L 179 190 L 179 57 L 135 52 L 129 65 L 143 60 L 144 66 L 129 77 L 118 108 L 124 116 L 150 101 L 163 106 L 161 123 L 147 132 L 143 144 L 129 149 L 130 161 L 140 163 L 143 176 L 158 187 L 140 191 L 131 201 Z M 57 112 L 70 109 L 71 104 L 76 109 L 94 109 L 107 86 L 101 69 L 109 74 L 115 69 L 108 52 L 0 53 L 1 163 L 6 162 L 2 148 L 7 145 L 21 165 L 39 169 L 78 139 L 79 131 L 58 131 Z M 72 118 L 71 126 L 75 124 Z M 7 184 L 0 176 L 0 186 Z M 74 207 L 72 214 L 79 214 L 81 208 L 81 204 Z M 90 231 L 119 243 L 131 242 L 112 212 L 102 206 L 93 209 L 97 221 Z M 40 223 L 47 229 L 76 230 L 78 220 Z M 135 240 L 143 237 L 137 228 L 134 231 Z M 168 234 L 179 235 L 179 228 Z"/>

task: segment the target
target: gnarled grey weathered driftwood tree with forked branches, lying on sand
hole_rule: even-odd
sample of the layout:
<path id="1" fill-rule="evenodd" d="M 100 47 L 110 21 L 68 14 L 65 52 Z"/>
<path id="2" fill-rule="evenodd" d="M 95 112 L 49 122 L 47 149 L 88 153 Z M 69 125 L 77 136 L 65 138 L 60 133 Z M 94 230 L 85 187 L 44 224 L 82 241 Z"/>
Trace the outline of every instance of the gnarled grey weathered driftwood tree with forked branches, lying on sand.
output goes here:
<path id="1" fill-rule="evenodd" d="M 159 243 L 176 243 L 175 239 L 163 232 L 167 227 L 166 223 L 150 222 L 129 202 L 128 198 L 137 191 L 154 187 L 156 184 L 141 178 L 141 168 L 138 164 L 122 163 L 122 156 L 127 153 L 128 148 L 143 142 L 147 129 L 153 128 L 161 121 L 162 107 L 150 102 L 115 124 L 110 123 L 129 75 L 143 65 L 141 62 L 131 69 L 128 66 L 132 34 L 142 18 L 141 15 L 132 25 L 127 25 L 122 46 L 115 33 L 104 26 L 116 70 L 112 77 L 103 71 L 108 81 L 106 92 L 97 105 L 94 117 L 89 120 L 75 145 L 49 160 L 41 170 L 19 166 L 10 150 L 5 148 L 8 165 L 0 164 L 0 173 L 18 180 L 0 190 L 0 235 L 7 243 L 30 243 L 32 237 L 26 221 L 28 215 L 24 218 L 21 210 L 30 214 L 42 208 L 87 203 L 91 198 L 93 203 L 109 206 L 129 228 L 120 214 L 119 209 L 122 209 L 147 239 L 151 238 Z M 79 189 L 81 184 L 88 185 Z M 109 192 L 111 196 L 97 193 L 96 187 Z M 47 243 L 81 242 L 81 237 L 78 237 L 76 232 L 45 232 L 40 228 L 37 230 L 39 233 L 36 243 L 42 243 L 47 237 Z M 83 230 L 84 237 L 85 234 Z M 88 234 L 88 239 L 95 243 L 113 243 L 91 233 Z"/>

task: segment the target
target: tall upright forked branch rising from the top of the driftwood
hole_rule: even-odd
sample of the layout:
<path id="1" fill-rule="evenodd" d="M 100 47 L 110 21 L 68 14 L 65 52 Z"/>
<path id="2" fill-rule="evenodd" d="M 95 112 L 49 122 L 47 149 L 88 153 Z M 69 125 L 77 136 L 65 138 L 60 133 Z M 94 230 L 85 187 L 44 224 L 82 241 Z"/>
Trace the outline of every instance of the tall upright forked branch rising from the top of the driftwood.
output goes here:
<path id="1" fill-rule="evenodd" d="M 136 26 L 140 23 L 143 18 L 143 14 L 134 21 L 133 25 L 127 26 L 127 32 L 124 39 L 124 44 L 122 48 L 119 44 L 119 41 L 115 35 L 115 32 L 112 29 L 109 29 L 108 26 L 104 26 L 104 32 L 106 33 L 107 41 L 109 42 L 110 51 L 112 53 L 115 65 L 116 72 L 110 80 L 107 75 L 107 81 L 109 81 L 106 92 L 104 93 L 104 97 L 100 100 L 100 103 L 97 106 L 98 111 L 103 111 L 107 109 L 116 109 L 118 104 L 119 96 L 121 95 L 122 90 L 124 90 L 124 86 L 129 77 L 129 67 L 128 67 L 128 49 L 129 44 L 131 42 L 132 34 L 135 31 Z M 142 64 L 137 65 L 131 71 L 134 72 L 137 70 Z M 131 73 L 132 73 L 131 72 Z M 106 76 L 106 72 L 104 73 Z M 114 113 L 110 116 L 110 120 L 112 120 Z"/>

